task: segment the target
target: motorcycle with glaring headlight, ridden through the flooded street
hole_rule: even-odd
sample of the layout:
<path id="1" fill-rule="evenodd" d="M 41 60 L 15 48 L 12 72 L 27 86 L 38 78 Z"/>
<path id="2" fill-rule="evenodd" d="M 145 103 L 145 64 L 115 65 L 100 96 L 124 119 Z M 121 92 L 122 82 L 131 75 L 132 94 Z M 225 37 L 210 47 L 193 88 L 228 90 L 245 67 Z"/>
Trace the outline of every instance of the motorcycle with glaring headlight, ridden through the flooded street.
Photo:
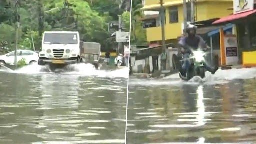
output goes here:
<path id="1" fill-rule="evenodd" d="M 192 79 L 194 76 L 199 76 L 202 79 L 205 77 L 205 59 L 204 55 L 206 54 L 205 50 L 197 50 L 197 51 L 192 51 L 191 54 L 188 56 L 188 58 L 185 58 L 184 60 L 189 60 L 190 66 L 186 70 L 186 77 L 183 77 L 181 74 L 179 74 L 179 77 L 182 80 L 189 81 Z M 182 57 L 183 59 L 183 57 Z M 184 63 L 184 60 L 181 61 L 181 65 Z"/>

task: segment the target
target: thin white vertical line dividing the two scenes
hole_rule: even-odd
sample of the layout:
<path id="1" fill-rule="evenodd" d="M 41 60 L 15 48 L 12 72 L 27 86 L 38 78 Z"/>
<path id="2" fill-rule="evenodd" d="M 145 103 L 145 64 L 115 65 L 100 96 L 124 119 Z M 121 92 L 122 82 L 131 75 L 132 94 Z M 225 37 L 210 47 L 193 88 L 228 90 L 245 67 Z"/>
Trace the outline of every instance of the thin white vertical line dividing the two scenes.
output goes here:
<path id="1" fill-rule="evenodd" d="M 128 58 L 128 79 L 127 79 L 127 96 L 126 96 L 126 122 L 125 122 L 125 144 L 127 142 L 127 120 L 128 120 L 128 97 L 129 97 L 129 66 L 130 66 L 130 36 L 131 36 L 131 17 L 132 15 L 132 0 L 130 0 L 130 31 L 129 31 L 129 58 Z"/>

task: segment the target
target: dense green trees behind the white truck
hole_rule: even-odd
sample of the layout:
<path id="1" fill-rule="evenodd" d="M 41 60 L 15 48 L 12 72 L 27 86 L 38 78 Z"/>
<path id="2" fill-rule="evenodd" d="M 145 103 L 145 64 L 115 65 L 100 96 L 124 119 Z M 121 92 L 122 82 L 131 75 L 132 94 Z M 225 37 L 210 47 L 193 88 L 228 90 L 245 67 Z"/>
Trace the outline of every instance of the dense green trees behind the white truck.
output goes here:
<path id="1" fill-rule="evenodd" d="M 111 49 L 113 38 L 108 23 L 118 20 L 129 0 L 0 0 L 0 46 L 14 48 L 16 21 L 20 19 L 19 48 L 41 47 L 43 31 L 78 30 L 83 41 L 100 42 L 102 50 Z M 15 10 L 19 14 L 15 16 Z M 129 22 L 129 21 L 128 21 Z M 129 24 L 128 24 L 129 25 Z M 7 41 L 4 45 L 2 41 Z"/>

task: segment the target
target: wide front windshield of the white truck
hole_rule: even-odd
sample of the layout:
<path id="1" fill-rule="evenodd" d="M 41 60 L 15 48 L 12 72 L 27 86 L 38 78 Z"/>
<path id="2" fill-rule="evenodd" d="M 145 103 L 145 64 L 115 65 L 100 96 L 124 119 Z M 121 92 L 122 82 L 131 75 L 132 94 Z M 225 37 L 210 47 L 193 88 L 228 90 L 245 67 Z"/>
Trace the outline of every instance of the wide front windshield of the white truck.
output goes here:
<path id="1" fill-rule="evenodd" d="M 75 33 L 45 33 L 44 44 L 77 44 Z"/>

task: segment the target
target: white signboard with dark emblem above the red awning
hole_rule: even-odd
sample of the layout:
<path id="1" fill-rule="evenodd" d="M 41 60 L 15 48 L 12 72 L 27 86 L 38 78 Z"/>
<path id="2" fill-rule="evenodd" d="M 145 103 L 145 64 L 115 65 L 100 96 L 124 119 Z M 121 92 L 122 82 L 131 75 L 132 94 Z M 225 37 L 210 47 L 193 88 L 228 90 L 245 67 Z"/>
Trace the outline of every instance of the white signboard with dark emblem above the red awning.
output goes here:
<path id="1" fill-rule="evenodd" d="M 254 9 L 254 0 L 234 0 L 234 14 Z"/>

